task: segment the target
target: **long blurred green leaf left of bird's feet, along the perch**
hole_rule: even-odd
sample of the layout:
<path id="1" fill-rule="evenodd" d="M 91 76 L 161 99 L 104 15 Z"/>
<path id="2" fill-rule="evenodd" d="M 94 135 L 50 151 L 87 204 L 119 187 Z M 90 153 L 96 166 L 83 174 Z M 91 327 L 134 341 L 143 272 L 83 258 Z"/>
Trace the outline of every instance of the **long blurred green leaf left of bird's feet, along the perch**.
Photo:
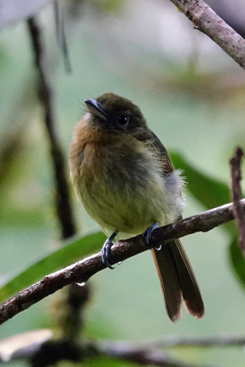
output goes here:
<path id="1" fill-rule="evenodd" d="M 93 233 L 80 239 L 68 242 L 47 255 L 36 264 L 31 265 L 19 275 L 8 281 L 0 288 L 0 302 L 42 279 L 45 275 L 82 259 L 84 256 L 101 249 L 105 235 L 102 232 Z"/>

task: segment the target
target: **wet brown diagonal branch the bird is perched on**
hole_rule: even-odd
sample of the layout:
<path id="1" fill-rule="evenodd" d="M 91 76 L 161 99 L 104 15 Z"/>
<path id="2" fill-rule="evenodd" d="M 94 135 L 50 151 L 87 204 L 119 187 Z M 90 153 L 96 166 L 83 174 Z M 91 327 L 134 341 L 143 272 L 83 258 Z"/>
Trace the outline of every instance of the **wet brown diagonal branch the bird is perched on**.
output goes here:
<path id="1" fill-rule="evenodd" d="M 242 199 L 240 203 L 245 208 L 245 199 Z M 153 232 L 152 240 L 158 247 L 163 238 L 170 240 L 196 232 L 208 232 L 233 219 L 233 203 L 230 203 L 157 228 Z M 112 247 L 112 261 L 116 264 L 146 250 L 148 247 L 144 244 L 142 235 L 121 240 Z M 99 252 L 65 269 L 47 275 L 43 280 L 17 293 L 0 305 L 0 325 L 58 289 L 73 282 L 86 282 L 102 269 L 105 269 L 105 266 L 101 260 L 101 252 Z"/>

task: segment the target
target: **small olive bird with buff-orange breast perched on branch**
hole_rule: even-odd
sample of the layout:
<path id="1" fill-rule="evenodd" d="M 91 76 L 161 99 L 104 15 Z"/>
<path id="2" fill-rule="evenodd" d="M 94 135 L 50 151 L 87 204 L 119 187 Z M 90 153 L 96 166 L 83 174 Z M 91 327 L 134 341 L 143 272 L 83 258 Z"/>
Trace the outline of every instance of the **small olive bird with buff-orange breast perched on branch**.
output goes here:
<path id="1" fill-rule="evenodd" d="M 143 234 L 151 247 L 166 313 L 174 323 L 182 303 L 197 319 L 204 305 L 194 271 L 179 239 L 159 248 L 152 232 L 182 218 L 184 180 L 174 170 L 167 150 L 150 130 L 140 108 L 129 99 L 106 92 L 84 101 L 69 153 L 73 187 L 83 207 L 108 235 L 102 261 L 112 268 L 115 239 Z"/>

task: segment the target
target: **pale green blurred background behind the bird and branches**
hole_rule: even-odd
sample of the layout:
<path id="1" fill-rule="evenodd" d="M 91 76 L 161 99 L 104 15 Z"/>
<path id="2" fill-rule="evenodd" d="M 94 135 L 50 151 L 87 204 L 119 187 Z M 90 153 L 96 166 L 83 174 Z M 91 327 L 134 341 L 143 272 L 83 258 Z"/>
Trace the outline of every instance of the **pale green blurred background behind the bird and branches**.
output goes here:
<path id="1" fill-rule="evenodd" d="M 168 0 L 60 2 L 72 72 L 57 42 L 52 1 L 0 1 L 0 280 L 5 283 L 60 246 L 53 172 L 26 17 L 43 30 L 45 68 L 53 90 L 56 130 L 66 162 L 83 101 L 111 91 L 138 105 L 170 152 L 210 177 L 230 183 L 234 147 L 245 148 L 245 78 L 241 69 Z M 207 1 L 245 34 L 245 3 Z M 244 33 L 243 33 L 244 32 Z M 243 166 L 244 167 L 244 166 Z M 66 166 L 67 177 L 68 167 Z M 69 179 L 69 178 L 68 178 Z M 72 189 L 78 233 L 100 230 Z M 219 192 L 217 192 L 219 202 Z M 223 204 L 223 203 L 221 203 Z M 183 216 L 206 208 L 186 191 Z M 183 310 L 172 324 L 149 251 L 90 280 L 86 335 L 140 341 L 175 336 L 244 335 L 244 289 L 230 266 L 222 227 L 183 238 L 206 314 Z M 59 292 L 0 327 L 0 338 L 53 327 Z M 186 363 L 244 366 L 242 348 L 172 348 Z M 19 364 L 19 363 L 18 363 Z"/>

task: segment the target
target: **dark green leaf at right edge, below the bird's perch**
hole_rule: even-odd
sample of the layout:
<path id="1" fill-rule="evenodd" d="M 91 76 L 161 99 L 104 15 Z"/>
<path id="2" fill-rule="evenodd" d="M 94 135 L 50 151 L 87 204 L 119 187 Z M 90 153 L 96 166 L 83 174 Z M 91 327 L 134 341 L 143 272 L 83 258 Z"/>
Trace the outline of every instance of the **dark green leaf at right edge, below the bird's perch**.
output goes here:
<path id="1" fill-rule="evenodd" d="M 234 273 L 245 288 L 245 258 L 237 237 L 231 241 L 229 250 Z"/>

